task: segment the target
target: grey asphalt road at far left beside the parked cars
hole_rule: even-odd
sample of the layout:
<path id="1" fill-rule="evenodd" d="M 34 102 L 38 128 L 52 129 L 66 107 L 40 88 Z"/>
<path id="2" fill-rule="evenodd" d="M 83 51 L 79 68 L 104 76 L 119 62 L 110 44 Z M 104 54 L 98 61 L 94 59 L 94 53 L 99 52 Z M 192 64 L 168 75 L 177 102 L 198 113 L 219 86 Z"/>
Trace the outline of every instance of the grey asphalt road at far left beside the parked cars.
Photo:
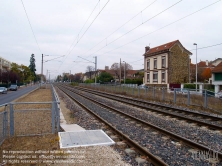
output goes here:
<path id="1" fill-rule="evenodd" d="M 39 85 L 22 87 L 22 88 L 19 88 L 17 91 L 8 91 L 7 94 L 0 94 L 0 105 L 5 104 L 5 103 L 10 103 L 13 100 L 23 96 L 24 94 L 38 88 L 38 86 Z"/>

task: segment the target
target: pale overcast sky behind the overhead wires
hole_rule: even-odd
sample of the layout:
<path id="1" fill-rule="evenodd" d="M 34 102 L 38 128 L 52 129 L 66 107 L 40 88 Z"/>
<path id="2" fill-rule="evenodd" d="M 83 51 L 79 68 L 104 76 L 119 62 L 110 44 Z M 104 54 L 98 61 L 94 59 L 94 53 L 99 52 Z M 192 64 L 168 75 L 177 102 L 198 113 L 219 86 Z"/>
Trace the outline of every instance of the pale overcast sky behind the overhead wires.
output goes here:
<path id="1" fill-rule="evenodd" d="M 55 78 L 111 67 L 143 69 L 145 47 L 174 40 L 192 63 L 222 58 L 222 0 L 0 0 L 0 56 Z M 207 47 L 207 48 L 204 48 Z M 47 74 L 48 73 L 48 74 Z"/>

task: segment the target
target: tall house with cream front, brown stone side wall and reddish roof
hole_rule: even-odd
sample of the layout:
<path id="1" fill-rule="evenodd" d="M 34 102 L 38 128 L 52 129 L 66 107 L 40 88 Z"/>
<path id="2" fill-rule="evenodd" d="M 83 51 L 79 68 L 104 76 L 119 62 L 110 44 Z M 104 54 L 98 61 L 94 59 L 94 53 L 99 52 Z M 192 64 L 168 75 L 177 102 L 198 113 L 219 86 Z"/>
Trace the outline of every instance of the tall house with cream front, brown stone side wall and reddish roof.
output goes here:
<path id="1" fill-rule="evenodd" d="M 179 40 L 154 48 L 145 47 L 144 83 L 167 86 L 189 82 L 190 55 Z"/>

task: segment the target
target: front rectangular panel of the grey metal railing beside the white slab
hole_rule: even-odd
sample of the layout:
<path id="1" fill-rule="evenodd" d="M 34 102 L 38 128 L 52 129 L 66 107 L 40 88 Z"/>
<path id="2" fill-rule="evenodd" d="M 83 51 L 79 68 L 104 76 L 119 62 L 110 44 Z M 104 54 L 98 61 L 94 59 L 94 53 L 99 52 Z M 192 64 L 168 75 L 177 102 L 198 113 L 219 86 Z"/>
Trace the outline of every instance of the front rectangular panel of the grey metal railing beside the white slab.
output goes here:
<path id="1" fill-rule="evenodd" d="M 32 136 L 55 133 L 56 102 L 10 103 L 10 136 Z M 35 109 L 33 109 L 35 108 Z"/>

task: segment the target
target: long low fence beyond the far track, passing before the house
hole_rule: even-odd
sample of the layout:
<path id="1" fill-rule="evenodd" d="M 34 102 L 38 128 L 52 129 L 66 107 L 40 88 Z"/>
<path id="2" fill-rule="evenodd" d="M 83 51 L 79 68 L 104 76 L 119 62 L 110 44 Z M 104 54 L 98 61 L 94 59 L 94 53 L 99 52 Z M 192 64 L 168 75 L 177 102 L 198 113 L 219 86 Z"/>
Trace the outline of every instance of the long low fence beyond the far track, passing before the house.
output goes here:
<path id="1" fill-rule="evenodd" d="M 216 94 L 205 89 L 196 92 L 193 89 L 167 89 L 164 87 L 140 88 L 98 84 L 80 84 L 80 86 L 105 92 L 134 96 L 149 101 L 159 101 L 170 104 L 180 104 L 184 106 L 198 106 L 200 108 L 208 108 L 216 112 L 222 112 L 222 99 L 215 97 Z"/>

